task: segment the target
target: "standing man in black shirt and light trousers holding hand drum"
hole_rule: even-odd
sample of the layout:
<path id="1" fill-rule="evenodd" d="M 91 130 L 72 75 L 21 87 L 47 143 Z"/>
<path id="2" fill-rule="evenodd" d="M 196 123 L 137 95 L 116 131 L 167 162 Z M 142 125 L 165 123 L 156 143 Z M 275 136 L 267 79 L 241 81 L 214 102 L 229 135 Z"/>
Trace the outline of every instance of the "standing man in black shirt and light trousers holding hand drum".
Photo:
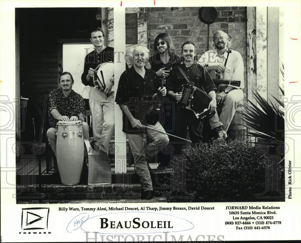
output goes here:
<path id="1" fill-rule="evenodd" d="M 89 105 L 92 112 L 94 149 L 107 153 L 114 131 L 114 48 L 104 45 L 104 31 L 91 31 L 95 50 L 85 57 L 82 83 L 91 86 Z"/>

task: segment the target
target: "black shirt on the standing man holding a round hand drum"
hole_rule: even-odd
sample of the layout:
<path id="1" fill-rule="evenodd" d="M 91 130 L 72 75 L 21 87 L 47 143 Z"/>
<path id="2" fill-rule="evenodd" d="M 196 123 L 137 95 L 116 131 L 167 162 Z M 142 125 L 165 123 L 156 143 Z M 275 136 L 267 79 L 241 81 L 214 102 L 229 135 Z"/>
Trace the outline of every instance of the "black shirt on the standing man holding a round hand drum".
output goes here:
<path id="1" fill-rule="evenodd" d="M 88 82 L 86 77 L 88 75 L 89 68 L 97 68 L 97 66 L 101 63 L 107 63 L 107 62 L 114 62 L 114 48 L 107 46 L 102 50 L 100 53 L 97 53 L 96 49 L 92 52 L 90 52 L 85 57 L 85 65 L 84 65 L 84 72 L 82 73 L 82 83 L 87 86 L 94 86 L 93 80 L 90 78 L 90 81 Z"/>

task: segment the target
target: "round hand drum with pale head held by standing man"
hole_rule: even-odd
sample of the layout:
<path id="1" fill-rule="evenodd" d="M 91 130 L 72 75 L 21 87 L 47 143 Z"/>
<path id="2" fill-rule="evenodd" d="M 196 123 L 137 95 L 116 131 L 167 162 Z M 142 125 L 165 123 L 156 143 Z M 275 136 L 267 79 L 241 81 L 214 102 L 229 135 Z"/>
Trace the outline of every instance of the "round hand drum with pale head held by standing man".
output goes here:
<path id="1" fill-rule="evenodd" d="M 95 88 L 98 88 L 100 91 L 106 89 L 106 82 L 109 81 L 114 76 L 114 63 L 107 62 L 99 64 L 95 69 L 95 74 L 93 78 L 93 84 Z M 114 91 L 114 85 L 112 87 Z"/>

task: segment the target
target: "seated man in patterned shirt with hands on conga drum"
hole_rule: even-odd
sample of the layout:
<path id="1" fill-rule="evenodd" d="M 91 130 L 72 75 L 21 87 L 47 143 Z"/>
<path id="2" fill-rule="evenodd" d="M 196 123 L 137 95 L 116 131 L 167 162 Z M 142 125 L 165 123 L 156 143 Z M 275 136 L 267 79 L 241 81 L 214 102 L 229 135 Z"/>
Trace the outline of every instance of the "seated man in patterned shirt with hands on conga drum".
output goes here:
<path id="1" fill-rule="evenodd" d="M 85 122 L 86 110 L 84 99 L 72 90 L 73 77 L 69 72 L 60 76 L 61 88 L 53 89 L 48 96 L 49 129 L 47 138 L 56 156 L 56 125 L 58 121 L 82 121 L 83 137 L 89 138 L 89 126 Z M 64 148 L 59 148 L 64 149 Z"/>

